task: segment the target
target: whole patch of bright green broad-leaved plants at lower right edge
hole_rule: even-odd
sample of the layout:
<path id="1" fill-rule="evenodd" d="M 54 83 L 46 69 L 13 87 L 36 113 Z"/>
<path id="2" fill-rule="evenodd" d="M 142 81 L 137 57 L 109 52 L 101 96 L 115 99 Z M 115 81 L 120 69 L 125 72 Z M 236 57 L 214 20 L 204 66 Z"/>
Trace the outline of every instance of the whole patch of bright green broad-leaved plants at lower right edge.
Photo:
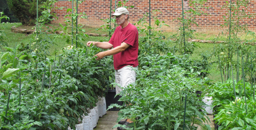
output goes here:
<path id="1" fill-rule="evenodd" d="M 228 79 L 224 83 L 217 82 L 212 87 L 209 96 L 213 97 L 214 120 L 220 126 L 219 129 L 250 130 L 255 127 L 255 95 L 251 93 L 248 82 L 245 82 L 244 85 L 245 87 L 241 87 L 243 86 L 242 81 L 233 82 Z"/>

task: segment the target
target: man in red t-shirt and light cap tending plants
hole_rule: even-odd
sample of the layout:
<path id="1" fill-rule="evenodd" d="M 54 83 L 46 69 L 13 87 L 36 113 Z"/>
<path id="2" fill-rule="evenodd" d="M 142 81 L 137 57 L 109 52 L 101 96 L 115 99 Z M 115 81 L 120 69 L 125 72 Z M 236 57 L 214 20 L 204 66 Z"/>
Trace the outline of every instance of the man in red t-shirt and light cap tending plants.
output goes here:
<path id="1" fill-rule="evenodd" d="M 116 75 L 116 83 L 120 84 L 122 88 L 134 83 L 136 80 L 136 73 L 133 68 L 137 69 L 138 62 L 138 30 L 129 23 L 129 12 L 126 8 L 117 8 L 115 13 L 111 15 L 116 17 L 116 24 L 119 25 L 111 39 L 108 42 L 87 42 L 87 46 L 90 44 L 102 49 L 110 49 L 108 51 L 99 52 L 97 60 L 102 59 L 105 56 L 113 55 L 114 69 Z M 133 68 L 132 68 L 132 67 Z M 120 93 L 121 89 L 116 86 L 116 94 Z M 127 119 L 126 122 L 119 122 L 119 124 L 128 125 L 132 121 Z M 122 127 L 117 127 L 118 130 L 125 130 Z"/>

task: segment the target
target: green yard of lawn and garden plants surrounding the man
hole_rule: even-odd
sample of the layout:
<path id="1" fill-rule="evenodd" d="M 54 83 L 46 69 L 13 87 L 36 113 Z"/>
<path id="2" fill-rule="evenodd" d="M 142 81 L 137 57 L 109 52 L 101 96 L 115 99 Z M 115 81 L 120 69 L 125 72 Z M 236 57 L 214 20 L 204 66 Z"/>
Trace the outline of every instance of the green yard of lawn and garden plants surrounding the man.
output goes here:
<path id="1" fill-rule="evenodd" d="M 193 7 L 204 7 L 204 0 L 189 1 Z M 194 17 L 204 14 L 200 8 L 183 13 L 185 18 L 178 19 L 183 24 L 175 32 L 161 31 L 168 25 L 157 19 L 159 10 L 152 11 L 153 25 L 145 14 L 136 23 L 136 82 L 123 88 L 122 105 L 108 108 L 103 108 L 105 96 L 116 85 L 113 56 L 96 60 L 94 55 L 106 50 L 86 43 L 108 41 L 115 30 L 109 24 L 114 18 L 92 28 L 76 25 L 76 16 L 86 15 L 73 13 L 65 23 L 51 24 L 52 14 L 46 11 L 36 25 L 1 23 L 0 129 L 75 130 L 81 129 L 76 126 L 80 124 L 84 130 L 92 130 L 106 109 L 116 107 L 120 108 L 116 122 L 132 119 L 130 130 L 197 130 L 198 125 L 213 130 L 207 114 L 214 115 L 218 130 L 254 130 L 255 34 L 236 23 L 237 18 L 249 17 L 239 12 L 239 4 L 246 2 L 236 2 L 230 9 L 232 17 L 224 17 L 223 26 L 228 29 L 220 34 L 191 28 Z M 4 14 L 0 17 L 5 18 Z M 16 33 L 11 28 L 32 33 Z M 90 36 L 92 33 L 99 36 Z M 206 98 L 211 99 L 210 105 Z M 213 113 L 207 113 L 208 106 Z M 113 127 L 118 126 L 122 125 Z"/>

